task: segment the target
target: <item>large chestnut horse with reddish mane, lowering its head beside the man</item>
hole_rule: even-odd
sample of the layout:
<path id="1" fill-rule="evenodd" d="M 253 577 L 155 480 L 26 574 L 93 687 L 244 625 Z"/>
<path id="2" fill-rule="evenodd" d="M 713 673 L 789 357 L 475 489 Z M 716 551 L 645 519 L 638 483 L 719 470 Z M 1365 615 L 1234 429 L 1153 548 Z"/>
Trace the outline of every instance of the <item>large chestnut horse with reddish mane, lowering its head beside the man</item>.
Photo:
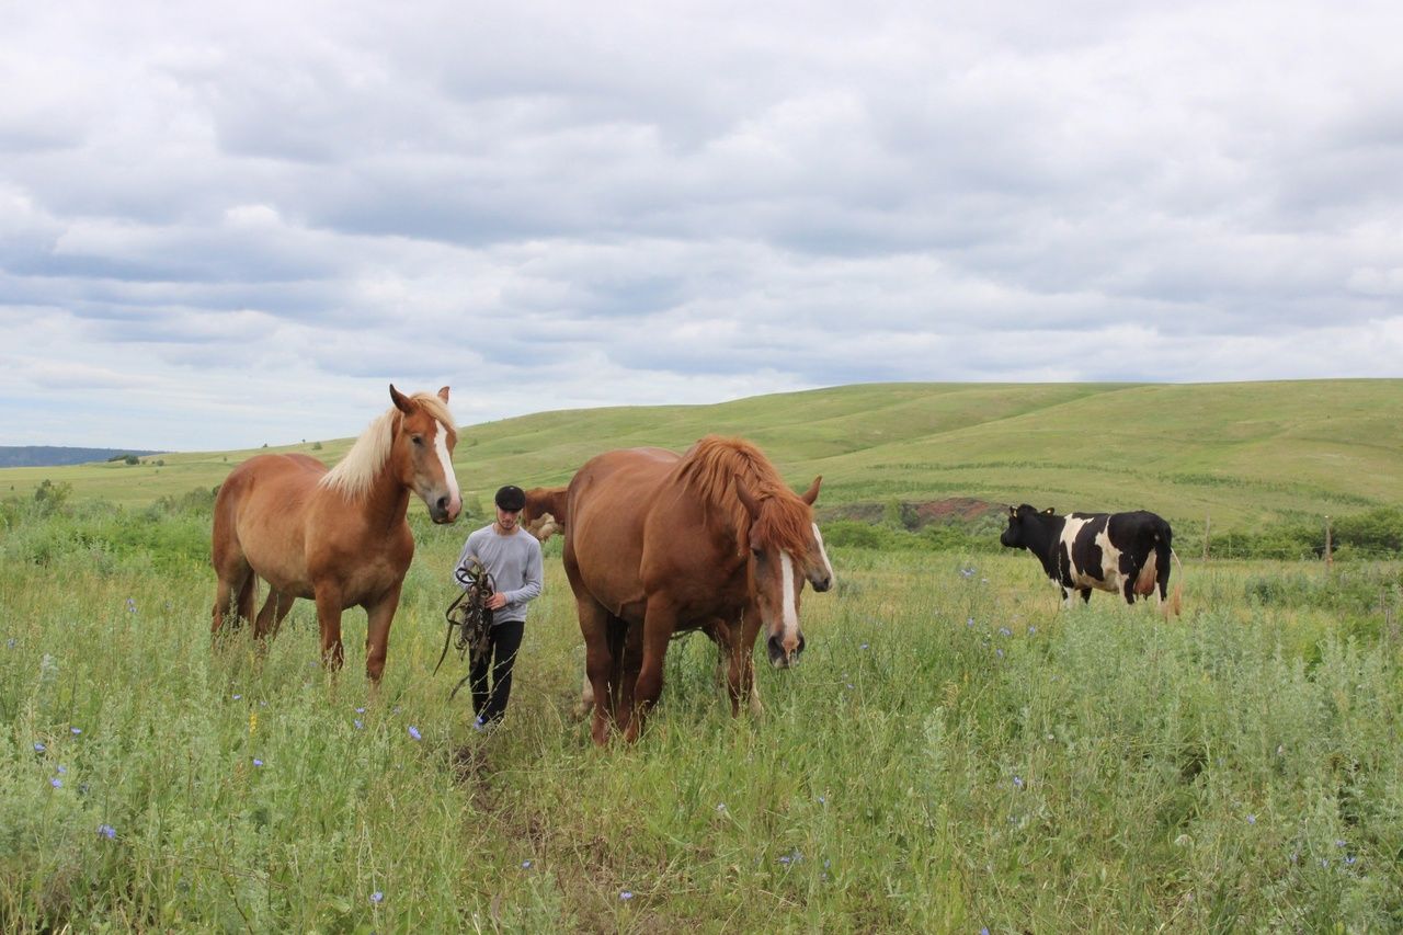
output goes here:
<path id="1" fill-rule="evenodd" d="M 767 633 L 770 661 L 804 649 L 800 592 L 833 584 L 814 522 L 822 477 L 794 494 L 753 445 L 707 435 L 686 453 L 631 448 L 598 455 L 567 494 L 564 566 L 575 594 L 591 737 L 610 727 L 637 740 L 662 692 L 675 632 L 710 626 L 730 650 L 731 715 L 755 685 L 752 651 Z"/>

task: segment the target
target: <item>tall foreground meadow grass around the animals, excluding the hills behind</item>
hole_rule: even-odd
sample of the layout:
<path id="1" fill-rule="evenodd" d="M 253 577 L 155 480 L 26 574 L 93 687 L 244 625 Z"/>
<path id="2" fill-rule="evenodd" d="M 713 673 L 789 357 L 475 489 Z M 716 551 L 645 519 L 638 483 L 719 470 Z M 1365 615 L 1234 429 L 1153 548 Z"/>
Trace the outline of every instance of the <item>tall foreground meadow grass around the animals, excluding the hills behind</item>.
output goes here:
<path id="1" fill-rule="evenodd" d="M 1027 556 L 833 549 L 762 720 L 689 637 L 595 750 L 554 543 L 484 737 L 429 675 L 470 526 L 418 529 L 376 694 L 363 615 L 340 677 L 306 604 L 212 647 L 198 508 L 119 519 L 154 545 L 0 541 L 4 931 L 1403 927 L 1397 564 L 1191 563 L 1164 622 L 1058 612 Z"/>

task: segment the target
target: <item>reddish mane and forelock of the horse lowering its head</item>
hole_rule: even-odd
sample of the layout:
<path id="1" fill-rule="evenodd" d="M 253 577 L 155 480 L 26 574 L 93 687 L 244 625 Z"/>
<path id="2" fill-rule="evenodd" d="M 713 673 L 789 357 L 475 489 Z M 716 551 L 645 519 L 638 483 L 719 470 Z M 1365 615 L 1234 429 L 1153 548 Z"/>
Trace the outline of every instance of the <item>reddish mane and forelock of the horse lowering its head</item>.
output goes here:
<path id="1" fill-rule="evenodd" d="M 760 505 L 756 538 L 767 546 L 794 555 L 807 552 L 814 522 L 808 504 L 788 489 L 774 465 L 751 442 L 707 435 L 682 456 L 673 468 L 673 477 L 704 503 L 723 511 L 737 543 L 746 549 L 751 515 L 735 493 L 735 482 L 741 479 Z"/>

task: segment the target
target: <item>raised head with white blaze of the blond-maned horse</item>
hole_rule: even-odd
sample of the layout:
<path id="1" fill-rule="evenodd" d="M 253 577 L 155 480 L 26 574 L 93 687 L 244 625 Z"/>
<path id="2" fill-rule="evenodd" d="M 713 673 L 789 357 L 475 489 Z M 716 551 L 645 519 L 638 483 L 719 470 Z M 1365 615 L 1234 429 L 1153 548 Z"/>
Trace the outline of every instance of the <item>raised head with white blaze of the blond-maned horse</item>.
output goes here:
<path id="1" fill-rule="evenodd" d="M 457 431 L 448 411 L 448 387 L 438 397 L 405 396 L 391 383 L 390 399 L 401 413 L 391 449 L 400 483 L 424 500 L 434 522 L 453 522 L 463 510 L 463 497 L 453 473 Z"/>

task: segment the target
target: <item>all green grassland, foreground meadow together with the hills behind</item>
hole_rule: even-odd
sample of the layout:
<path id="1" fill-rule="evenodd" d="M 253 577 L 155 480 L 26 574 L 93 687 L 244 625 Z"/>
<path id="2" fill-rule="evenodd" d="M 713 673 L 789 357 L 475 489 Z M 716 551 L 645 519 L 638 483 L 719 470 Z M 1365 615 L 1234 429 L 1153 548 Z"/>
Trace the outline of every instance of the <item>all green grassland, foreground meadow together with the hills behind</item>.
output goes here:
<path id="1" fill-rule="evenodd" d="M 449 702 L 455 654 L 431 672 L 490 491 L 595 451 L 734 432 L 796 486 L 824 473 L 825 507 L 1232 532 L 1403 503 L 1400 390 L 860 386 L 467 427 L 476 517 L 411 512 L 379 691 L 359 611 L 340 675 L 307 602 L 265 650 L 210 644 L 209 489 L 254 452 L 0 472 L 0 931 L 1399 931 L 1396 550 L 1204 562 L 1181 533 L 1164 621 L 1059 611 L 985 526 L 951 545 L 885 510 L 874 543 L 831 542 L 762 719 L 692 636 L 643 741 L 596 750 L 554 539 L 502 729 Z"/>

